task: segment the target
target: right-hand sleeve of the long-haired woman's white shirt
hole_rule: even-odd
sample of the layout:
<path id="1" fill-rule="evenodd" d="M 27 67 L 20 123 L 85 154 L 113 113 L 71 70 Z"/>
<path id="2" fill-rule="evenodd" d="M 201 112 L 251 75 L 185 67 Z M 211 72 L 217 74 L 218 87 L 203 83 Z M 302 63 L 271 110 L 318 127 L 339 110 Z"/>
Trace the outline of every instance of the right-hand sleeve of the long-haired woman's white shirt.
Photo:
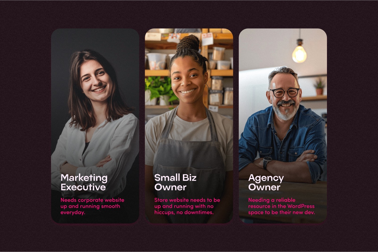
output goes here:
<path id="1" fill-rule="evenodd" d="M 112 160 L 108 161 L 104 166 L 77 167 L 76 176 L 107 176 L 107 182 L 98 181 L 76 181 L 78 185 L 94 184 L 95 186 L 105 185 L 106 190 L 88 190 L 96 194 L 110 194 L 111 192 L 121 192 L 124 186 L 121 186 L 122 180 L 126 180 L 127 172 L 129 172 L 136 155 L 139 152 L 139 122 L 134 116 L 127 117 L 117 126 L 110 141 L 110 150 L 108 155 Z"/>

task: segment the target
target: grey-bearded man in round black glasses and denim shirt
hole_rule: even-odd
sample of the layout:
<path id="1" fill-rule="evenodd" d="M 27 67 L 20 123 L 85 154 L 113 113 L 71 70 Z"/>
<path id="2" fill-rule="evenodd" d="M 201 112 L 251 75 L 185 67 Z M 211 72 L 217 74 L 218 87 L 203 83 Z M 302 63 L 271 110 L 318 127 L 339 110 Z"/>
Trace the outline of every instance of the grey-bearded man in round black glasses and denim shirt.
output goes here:
<path id="1" fill-rule="evenodd" d="M 315 183 L 327 161 L 325 121 L 299 104 L 302 89 L 292 69 L 275 69 L 268 80 L 266 97 L 272 106 L 251 115 L 245 124 L 239 140 L 239 179 L 253 174 Z"/>

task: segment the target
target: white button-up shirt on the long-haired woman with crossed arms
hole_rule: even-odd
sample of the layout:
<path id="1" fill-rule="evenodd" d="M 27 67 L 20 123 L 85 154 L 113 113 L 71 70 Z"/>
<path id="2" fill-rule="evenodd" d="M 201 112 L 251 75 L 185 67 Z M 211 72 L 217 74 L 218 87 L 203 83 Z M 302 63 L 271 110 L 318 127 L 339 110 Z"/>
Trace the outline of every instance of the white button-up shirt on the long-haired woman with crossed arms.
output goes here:
<path id="1" fill-rule="evenodd" d="M 79 127 L 70 127 L 71 119 L 66 123 L 62 134 L 51 155 L 51 189 L 61 191 L 60 184 L 66 185 L 105 185 L 105 191 L 61 191 L 64 197 L 111 198 L 123 191 L 126 175 L 139 152 L 139 122 L 133 114 L 124 115 L 117 120 L 105 120 L 93 133 L 88 148 L 85 147 L 85 131 Z M 96 164 L 110 155 L 112 160 L 104 166 Z M 77 166 L 76 176 L 107 176 L 107 183 L 102 181 L 67 181 L 61 180 L 60 167 L 64 163 Z"/>

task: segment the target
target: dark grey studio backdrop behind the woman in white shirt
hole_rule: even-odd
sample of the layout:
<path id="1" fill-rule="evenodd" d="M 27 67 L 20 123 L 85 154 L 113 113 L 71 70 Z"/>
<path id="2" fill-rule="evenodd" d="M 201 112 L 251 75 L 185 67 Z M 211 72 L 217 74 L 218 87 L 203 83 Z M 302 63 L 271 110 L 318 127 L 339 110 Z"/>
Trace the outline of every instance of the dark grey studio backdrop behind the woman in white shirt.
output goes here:
<path id="1" fill-rule="evenodd" d="M 98 52 L 112 64 L 121 95 L 127 106 L 135 108 L 133 114 L 139 118 L 138 33 L 133 29 L 57 29 L 51 35 L 51 154 L 64 125 L 71 118 L 67 103 L 70 57 L 73 52 L 84 49 Z M 138 166 L 139 155 L 127 174 L 122 193 L 130 222 L 136 221 L 139 216 Z M 59 214 L 52 209 L 53 218 L 56 212 Z"/>

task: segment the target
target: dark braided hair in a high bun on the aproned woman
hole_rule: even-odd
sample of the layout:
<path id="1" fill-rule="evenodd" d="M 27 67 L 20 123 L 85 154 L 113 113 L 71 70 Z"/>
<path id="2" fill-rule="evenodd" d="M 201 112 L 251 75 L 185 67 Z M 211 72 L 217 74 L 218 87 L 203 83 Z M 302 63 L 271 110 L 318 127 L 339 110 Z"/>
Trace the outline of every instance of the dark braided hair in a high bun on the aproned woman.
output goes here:
<path id="1" fill-rule="evenodd" d="M 171 58 L 169 62 L 169 72 L 176 58 L 183 58 L 185 56 L 189 56 L 203 68 L 202 73 L 204 74 L 207 71 L 206 61 L 208 61 L 208 59 L 203 57 L 198 52 L 199 49 L 200 40 L 195 35 L 183 37 L 181 41 L 177 44 L 176 54 Z"/>

